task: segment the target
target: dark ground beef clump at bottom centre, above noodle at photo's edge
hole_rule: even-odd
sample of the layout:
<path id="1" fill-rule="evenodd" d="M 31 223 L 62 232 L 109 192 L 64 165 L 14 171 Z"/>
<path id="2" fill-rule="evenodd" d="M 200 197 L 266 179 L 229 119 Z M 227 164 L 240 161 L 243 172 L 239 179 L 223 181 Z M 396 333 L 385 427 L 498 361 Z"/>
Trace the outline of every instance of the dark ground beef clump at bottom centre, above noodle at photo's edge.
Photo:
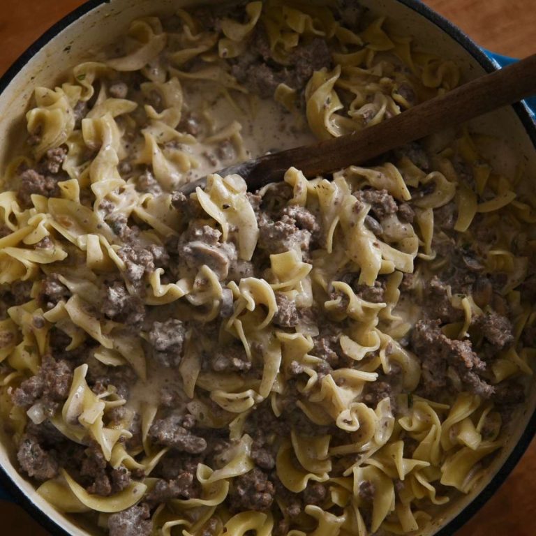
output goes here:
<path id="1" fill-rule="evenodd" d="M 229 496 L 231 512 L 267 512 L 274 502 L 274 484 L 269 481 L 266 473 L 257 467 L 233 479 L 233 484 Z"/>

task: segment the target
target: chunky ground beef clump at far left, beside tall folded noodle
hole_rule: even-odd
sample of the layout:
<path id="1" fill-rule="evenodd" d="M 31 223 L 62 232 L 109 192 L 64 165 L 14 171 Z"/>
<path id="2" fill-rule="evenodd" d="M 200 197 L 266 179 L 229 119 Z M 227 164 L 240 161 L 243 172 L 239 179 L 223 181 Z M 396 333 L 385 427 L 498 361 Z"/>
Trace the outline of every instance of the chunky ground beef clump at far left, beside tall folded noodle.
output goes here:
<path id="1" fill-rule="evenodd" d="M 24 380 L 11 398 L 15 405 L 22 408 L 29 408 L 39 400 L 47 414 L 54 415 L 59 402 L 67 398 L 72 381 L 73 371 L 68 362 L 44 355 L 37 374 Z"/>

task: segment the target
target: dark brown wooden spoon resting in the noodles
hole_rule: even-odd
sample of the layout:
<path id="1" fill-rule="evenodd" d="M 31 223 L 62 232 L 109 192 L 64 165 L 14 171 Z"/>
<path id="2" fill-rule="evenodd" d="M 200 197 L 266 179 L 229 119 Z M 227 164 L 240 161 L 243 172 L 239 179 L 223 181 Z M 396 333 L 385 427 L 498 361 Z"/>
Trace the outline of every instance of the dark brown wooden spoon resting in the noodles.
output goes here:
<path id="1" fill-rule="evenodd" d="M 306 177 L 359 165 L 396 147 L 420 140 L 446 128 L 516 103 L 536 94 L 536 54 L 489 75 L 432 98 L 377 125 L 295 149 L 267 154 L 218 171 L 237 173 L 248 190 L 255 191 L 270 182 L 281 181 L 294 166 Z M 181 186 L 184 193 L 204 187 L 206 177 Z"/>

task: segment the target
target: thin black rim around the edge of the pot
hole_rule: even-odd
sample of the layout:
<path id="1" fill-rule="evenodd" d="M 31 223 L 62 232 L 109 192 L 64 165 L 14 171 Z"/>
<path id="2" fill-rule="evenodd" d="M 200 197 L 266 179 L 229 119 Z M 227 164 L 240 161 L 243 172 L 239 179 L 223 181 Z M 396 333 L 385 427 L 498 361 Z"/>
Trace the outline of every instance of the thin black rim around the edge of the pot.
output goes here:
<path id="1" fill-rule="evenodd" d="M 439 15 L 434 10 L 426 6 L 420 0 L 397 0 L 399 3 L 403 3 L 408 8 L 411 8 L 415 12 L 419 13 L 430 22 L 433 22 L 438 26 L 442 31 L 445 31 L 446 34 L 454 38 L 460 45 L 465 48 L 472 57 L 474 57 L 479 64 L 486 70 L 486 72 L 491 73 L 493 70 L 496 70 L 496 66 L 493 61 L 484 53 L 484 51 L 466 34 L 463 33 L 458 27 L 456 27 L 452 22 Z M 62 30 L 68 27 L 70 24 L 75 22 L 89 11 L 94 8 L 101 6 L 103 3 L 110 3 L 110 0 L 89 0 L 86 3 L 82 4 L 80 8 L 77 8 L 73 12 L 69 13 L 61 19 L 59 22 L 54 24 L 50 29 L 48 29 L 43 36 L 40 36 L 23 54 L 20 56 L 12 66 L 4 73 L 0 78 L 0 94 L 8 87 L 10 82 L 15 78 L 15 76 L 22 70 L 22 68 L 31 60 L 32 57 L 50 42 L 57 34 Z M 533 142 L 536 149 L 536 127 L 535 121 L 531 119 L 530 114 L 526 110 L 526 107 L 521 103 L 516 103 L 513 105 L 516 114 L 521 123 L 526 128 L 526 131 L 530 137 L 530 140 Z M 474 516 L 479 509 L 481 509 L 484 504 L 493 496 L 493 494 L 499 489 L 506 478 L 512 472 L 516 464 L 519 462 L 523 454 L 528 449 L 530 442 L 533 440 L 536 435 L 536 411 L 533 413 L 532 417 L 526 426 L 525 431 L 521 434 L 519 441 L 516 443 L 516 446 L 508 456 L 505 463 L 502 464 L 496 475 L 491 479 L 491 482 L 472 500 L 452 521 L 450 521 L 445 527 L 439 530 L 438 533 L 435 533 L 434 536 L 453 536 L 456 530 L 459 530 L 463 525 L 465 525 L 471 518 Z M 8 492 L 16 498 L 17 504 L 22 506 L 31 516 L 40 523 L 46 530 L 48 530 L 54 536 L 72 536 L 66 532 L 61 526 L 59 526 L 55 521 L 53 521 L 49 516 L 47 516 L 34 502 L 25 495 L 22 489 L 13 482 L 13 479 L 10 478 L 6 470 L 0 466 L 0 482 L 3 486 L 6 487 Z"/>

